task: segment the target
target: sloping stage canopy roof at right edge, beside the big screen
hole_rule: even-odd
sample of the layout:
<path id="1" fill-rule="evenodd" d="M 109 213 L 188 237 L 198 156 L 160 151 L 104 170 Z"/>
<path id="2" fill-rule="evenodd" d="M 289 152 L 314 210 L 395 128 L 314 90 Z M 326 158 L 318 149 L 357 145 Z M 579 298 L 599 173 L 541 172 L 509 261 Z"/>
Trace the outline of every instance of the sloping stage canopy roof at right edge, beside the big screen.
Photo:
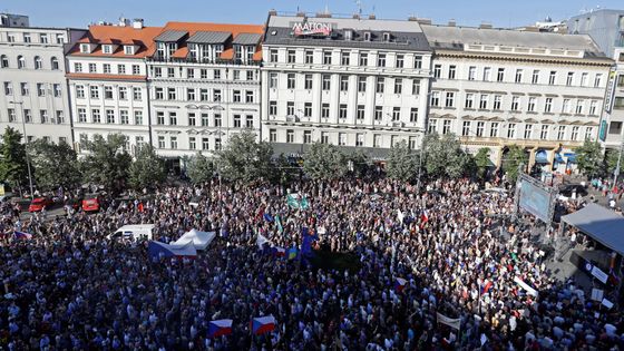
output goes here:
<path id="1" fill-rule="evenodd" d="M 562 217 L 606 247 L 624 255 L 624 216 L 596 204 Z"/>

